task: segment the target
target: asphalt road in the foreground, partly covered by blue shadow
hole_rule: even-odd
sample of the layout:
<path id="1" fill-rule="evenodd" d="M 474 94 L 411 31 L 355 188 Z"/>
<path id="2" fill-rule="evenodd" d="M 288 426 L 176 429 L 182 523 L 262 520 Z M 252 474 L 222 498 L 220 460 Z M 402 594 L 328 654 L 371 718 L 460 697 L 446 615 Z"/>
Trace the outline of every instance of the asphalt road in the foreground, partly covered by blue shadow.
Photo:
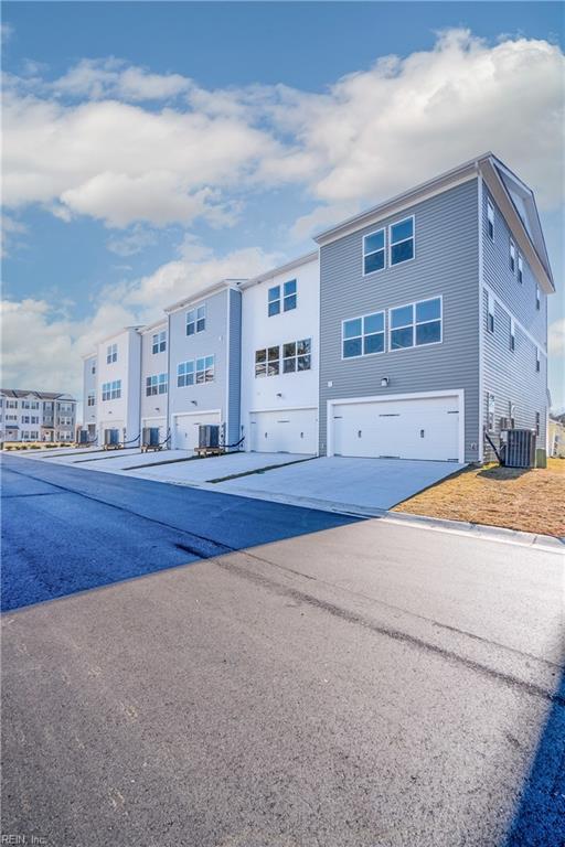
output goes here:
<path id="1" fill-rule="evenodd" d="M 6 464 L 2 834 L 565 844 L 563 556 Z"/>

